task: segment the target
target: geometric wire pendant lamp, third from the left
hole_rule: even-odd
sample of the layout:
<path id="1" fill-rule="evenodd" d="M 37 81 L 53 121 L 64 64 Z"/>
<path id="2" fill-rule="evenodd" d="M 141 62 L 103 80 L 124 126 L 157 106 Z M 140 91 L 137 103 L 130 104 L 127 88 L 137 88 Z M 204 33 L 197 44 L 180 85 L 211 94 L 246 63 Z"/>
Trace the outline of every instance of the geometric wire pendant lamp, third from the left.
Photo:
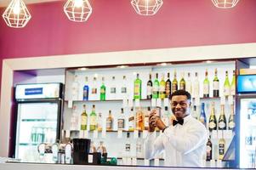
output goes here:
<path id="1" fill-rule="evenodd" d="M 137 14 L 154 15 L 162 6 L 162 0 L 132 0 L 131 1 Z"/>

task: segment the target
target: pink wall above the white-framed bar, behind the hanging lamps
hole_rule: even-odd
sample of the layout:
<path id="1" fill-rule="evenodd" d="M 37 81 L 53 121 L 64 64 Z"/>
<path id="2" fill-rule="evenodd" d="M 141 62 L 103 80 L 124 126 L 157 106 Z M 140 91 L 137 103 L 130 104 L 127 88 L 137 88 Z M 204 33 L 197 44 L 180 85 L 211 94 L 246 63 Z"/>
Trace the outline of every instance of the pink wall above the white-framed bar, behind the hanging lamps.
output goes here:
<path id="1" fill-rule="evenodd" d="M 211 0 L 164 0 L 148 17 L 136 14 L 130 0 L 90 2 L 94 11 L 86 23 L 66 18 L 64 1 L 28 5 L 32 18 L 23 29 L 1 18 L 0 57 L 256 42 L 256 0 L 232 9 L 215 8 Z"/>

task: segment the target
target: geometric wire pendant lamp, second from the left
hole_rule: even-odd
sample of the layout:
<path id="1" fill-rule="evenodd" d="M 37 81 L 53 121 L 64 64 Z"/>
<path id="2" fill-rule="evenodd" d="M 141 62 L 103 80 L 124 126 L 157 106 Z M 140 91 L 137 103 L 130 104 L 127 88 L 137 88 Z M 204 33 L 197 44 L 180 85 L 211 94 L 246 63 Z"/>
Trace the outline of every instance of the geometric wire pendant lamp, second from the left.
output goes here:
<path id="1" fill-rule="evenodd" d="M 68 0 L 64 6 L 64 12 L 69 20 L 85 22 L 92 14 L 93 8 L 88 0 Z"/>

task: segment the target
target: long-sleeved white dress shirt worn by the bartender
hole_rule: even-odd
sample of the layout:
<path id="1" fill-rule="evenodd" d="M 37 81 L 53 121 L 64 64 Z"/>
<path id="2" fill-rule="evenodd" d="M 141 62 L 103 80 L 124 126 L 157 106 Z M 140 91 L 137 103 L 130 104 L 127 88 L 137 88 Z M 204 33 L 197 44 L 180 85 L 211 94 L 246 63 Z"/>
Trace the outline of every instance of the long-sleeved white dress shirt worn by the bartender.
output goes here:
<path id="1" fill-rule="evenodd" d="M 149 133 L 145 139 L 145 159 L 165 150 L 165 166 L 202 167 L 206 153 L 208 133 L 202 122 L 191 115 L 185 116 L 184 124 L 167 127 L 157 138 Z"/>

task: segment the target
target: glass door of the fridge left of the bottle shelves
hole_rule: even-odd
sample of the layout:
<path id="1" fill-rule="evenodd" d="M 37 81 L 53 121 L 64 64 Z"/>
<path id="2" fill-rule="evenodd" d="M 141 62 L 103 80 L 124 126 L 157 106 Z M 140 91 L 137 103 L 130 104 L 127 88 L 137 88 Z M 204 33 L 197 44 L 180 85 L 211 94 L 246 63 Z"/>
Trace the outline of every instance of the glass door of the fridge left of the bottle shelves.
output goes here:
<path id="1" fill-rule="evenodd" d="M 15 157 L 37 162 L 37 145 L 54 143 L 58 126 L 58 103 L 20 103 L 16 130 Z"/>

